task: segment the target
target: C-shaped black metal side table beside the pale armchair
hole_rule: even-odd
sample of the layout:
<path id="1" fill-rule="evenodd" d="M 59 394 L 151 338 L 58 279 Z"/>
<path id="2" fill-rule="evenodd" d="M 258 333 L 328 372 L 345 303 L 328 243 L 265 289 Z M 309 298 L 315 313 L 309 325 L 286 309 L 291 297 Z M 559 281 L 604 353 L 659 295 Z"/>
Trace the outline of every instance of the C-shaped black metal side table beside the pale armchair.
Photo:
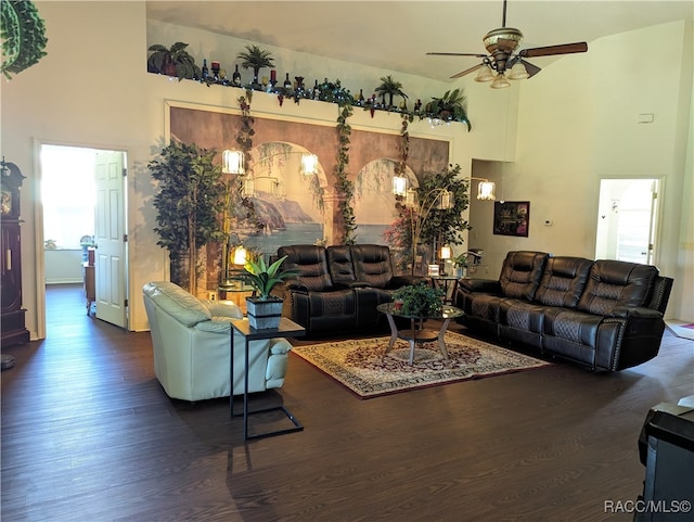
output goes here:
<path id="1" fill-rule="evenodd" d="M 234 332 L 239 332 L 243 335 L 245 342 L 244 348 L 244 389 L 243 389 L 243 413 L 234 413 Z M 243 440 L 249 441 L 253 438 L 262 438 L 273 435 L 282 435 L 284 433 L 292 433 L 304 430 L 301 423 L 294 417 L 288 409 L 284 406 L 272 406 L 270 408 L 257 409 L 248 411 L 248 343 L 250 341 L 272 339 L 272 338 L 303 338 L 306 335 L 306 329 L 300 324 L 283 317 L 280 321 L 279 328 L 270 328 L 267 330 L 256 330 L 250 328 L 248 321 L 245 319 L 235 319 L 231 321 L 231 362 L 229 365 L 229 379 L 230 379 L 230 393 L 229 393 L 229 410 L 232 418 L 241 417 L 243 415 Z M 284 430 L 277 430 L 266 433 L 259 433 L 256 435 L 248 435 L 248 416 L 254 413 L 262 413 L 266 411 L 282 411 L 294 424 L 293 428 Z"/>

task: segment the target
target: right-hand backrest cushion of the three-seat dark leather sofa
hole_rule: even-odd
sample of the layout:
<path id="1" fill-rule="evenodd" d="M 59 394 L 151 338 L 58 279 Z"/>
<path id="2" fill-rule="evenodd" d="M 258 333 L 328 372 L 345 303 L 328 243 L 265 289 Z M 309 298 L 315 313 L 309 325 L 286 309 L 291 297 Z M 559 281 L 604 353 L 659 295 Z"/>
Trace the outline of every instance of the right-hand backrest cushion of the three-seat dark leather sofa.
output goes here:
<path id="1" fill-rule="evenodd" d="M 648 303 L 658 269 L 651 265 L 601 259 L 593 263 L 578 309 L 604 315 L 615 306 Z"/>

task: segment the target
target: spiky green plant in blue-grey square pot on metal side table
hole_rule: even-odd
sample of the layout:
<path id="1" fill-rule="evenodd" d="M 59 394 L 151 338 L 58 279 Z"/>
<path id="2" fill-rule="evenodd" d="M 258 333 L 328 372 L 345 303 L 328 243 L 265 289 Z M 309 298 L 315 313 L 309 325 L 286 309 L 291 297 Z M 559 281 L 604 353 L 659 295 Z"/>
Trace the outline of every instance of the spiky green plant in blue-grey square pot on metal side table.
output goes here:
<path id="1" fill-rule="evenodd" d="M 246 297 L 246 309 L 248 322 L 256 330 L 278 328 L 282 317 L 283 300 L 277 295 L 271 295 L 275 284 L 284 279 L 296 276 L 296 270 L 282 270 L 280 267 L 286 256 L 280 257 L 269 266 L 261 255 L 257 260 L 252 258 L 246 260 L 244 279 L 255 290 L 255 296 Z"/>

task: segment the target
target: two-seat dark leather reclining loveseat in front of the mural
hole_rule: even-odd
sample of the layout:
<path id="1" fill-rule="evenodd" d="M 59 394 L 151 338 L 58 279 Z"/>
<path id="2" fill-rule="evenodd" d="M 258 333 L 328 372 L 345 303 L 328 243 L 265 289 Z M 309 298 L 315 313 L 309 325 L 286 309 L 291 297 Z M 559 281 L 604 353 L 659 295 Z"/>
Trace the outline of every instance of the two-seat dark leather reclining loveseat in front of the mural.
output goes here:
<path id="1" fill-rule="evenodd" d="M 387 328 L 376 306 L 391 301 L 393 291 L 423 278 L 396 276 L 390 250 L 376 244 L 281 246 L 283 269 L 298 276 L 279 284 L 283 314 L 306 328 L 307 335 Z"/>

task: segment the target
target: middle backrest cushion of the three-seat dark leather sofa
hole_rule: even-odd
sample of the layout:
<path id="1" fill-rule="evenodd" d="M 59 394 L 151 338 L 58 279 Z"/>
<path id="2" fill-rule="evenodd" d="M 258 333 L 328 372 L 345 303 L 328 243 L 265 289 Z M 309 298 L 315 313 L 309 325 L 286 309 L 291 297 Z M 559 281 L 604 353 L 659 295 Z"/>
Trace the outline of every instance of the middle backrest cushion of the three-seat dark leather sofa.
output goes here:
<path id="1" fill-rule="evenodd" d="M 548 306 L 576 308 L 592 266 L 593 262 L 583 257 L 550 257 L 535 301 Z"/>

